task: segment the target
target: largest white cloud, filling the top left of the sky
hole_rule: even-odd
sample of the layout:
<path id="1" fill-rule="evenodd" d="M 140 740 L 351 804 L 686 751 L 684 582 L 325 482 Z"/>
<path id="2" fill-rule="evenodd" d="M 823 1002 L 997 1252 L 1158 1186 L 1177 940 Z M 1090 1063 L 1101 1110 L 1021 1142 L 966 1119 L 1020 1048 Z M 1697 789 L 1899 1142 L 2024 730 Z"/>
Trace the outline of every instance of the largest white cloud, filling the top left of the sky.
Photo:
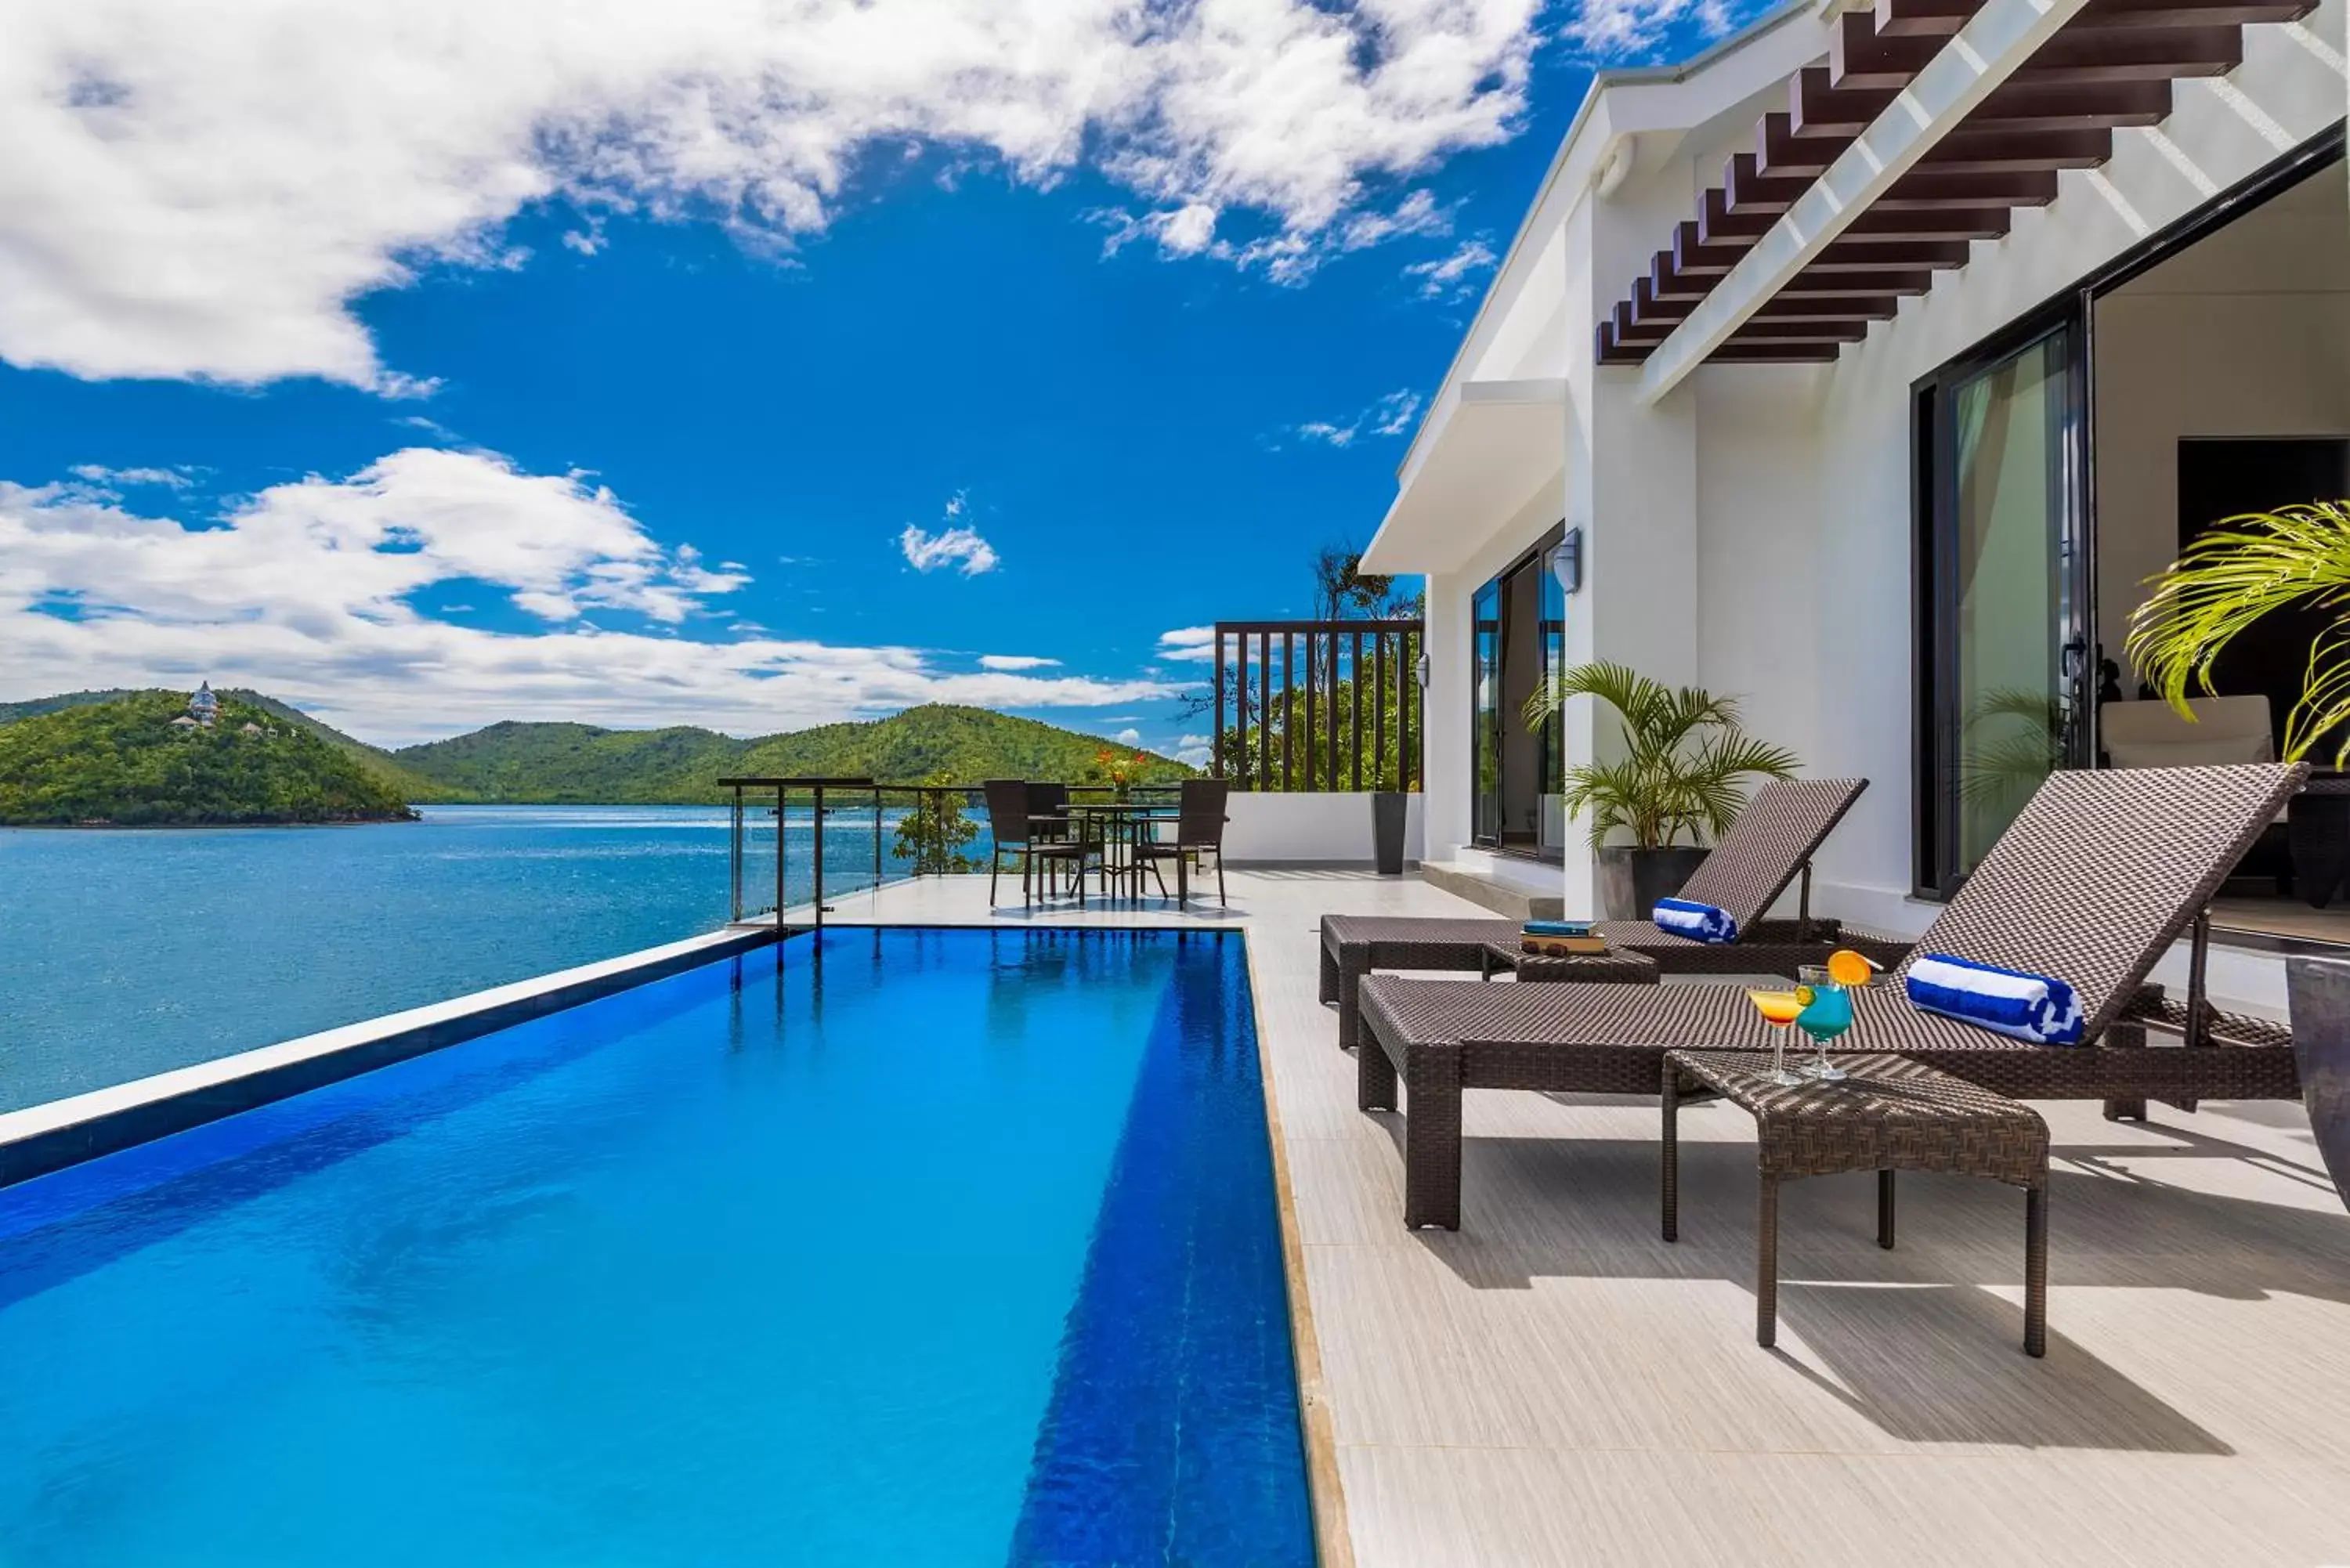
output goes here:
<path id="1" fill-rule="evenodd" d="M 21 0 L 0 49 L 0 357 L 430 395 L 352 301 L 522 266 L 522 209 L 566 205 L 576 252 L 613 212 L 712 216 L 776 252 L 855 200 L 867 155 L 916 146 L 1027 186 L 1093 167 L 1166 249 L 1295 270 L 1441 221 L 1424 193 L 1382 205 L 1513 134 L 1537 12 Z"/>

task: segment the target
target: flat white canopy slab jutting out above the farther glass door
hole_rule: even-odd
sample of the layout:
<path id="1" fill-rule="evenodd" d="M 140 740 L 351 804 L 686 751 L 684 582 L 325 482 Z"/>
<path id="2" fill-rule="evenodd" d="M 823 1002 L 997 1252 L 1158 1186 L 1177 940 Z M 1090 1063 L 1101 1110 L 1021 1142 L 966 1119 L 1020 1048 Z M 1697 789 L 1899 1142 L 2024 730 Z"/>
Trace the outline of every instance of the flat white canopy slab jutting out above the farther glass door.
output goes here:
<path id="1" fill-rule="evenodd" d="M 1567 383 L 1462 381 L 1429 409 L 1363 569 L 1452 571 L 1567 465 Z"/>

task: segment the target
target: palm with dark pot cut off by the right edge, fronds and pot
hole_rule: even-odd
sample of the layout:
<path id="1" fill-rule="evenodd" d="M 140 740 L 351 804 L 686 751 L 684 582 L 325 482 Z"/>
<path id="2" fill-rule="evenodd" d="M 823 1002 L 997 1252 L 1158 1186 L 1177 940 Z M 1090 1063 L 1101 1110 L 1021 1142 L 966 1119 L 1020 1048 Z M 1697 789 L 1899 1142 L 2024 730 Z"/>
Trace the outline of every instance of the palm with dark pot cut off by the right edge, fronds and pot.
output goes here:
<path id="1" fill-rule="evenodd" d="M 2329 741 L 2350 762 L 2350 501 L 2244 512 L 2207 529 L 2153 581 L 2129 616 L 2129 658 L 2171 708 L 2193 719 L 2188 689 L 2211 691 L 2211 663 L 2247 625 L 2287 607 L 2317 607 L 2334 625 L 2310 644 L 2310 672 L 2284 719 L 2284 759 Z M 2336 1185 L 2350 1178 L 2350 1009 L 2338 978 L 2294 976 L 2294 1056 L 2310 1131 Z M 2343 1192 L 2350 1199 L 2350 1190 Z"/>

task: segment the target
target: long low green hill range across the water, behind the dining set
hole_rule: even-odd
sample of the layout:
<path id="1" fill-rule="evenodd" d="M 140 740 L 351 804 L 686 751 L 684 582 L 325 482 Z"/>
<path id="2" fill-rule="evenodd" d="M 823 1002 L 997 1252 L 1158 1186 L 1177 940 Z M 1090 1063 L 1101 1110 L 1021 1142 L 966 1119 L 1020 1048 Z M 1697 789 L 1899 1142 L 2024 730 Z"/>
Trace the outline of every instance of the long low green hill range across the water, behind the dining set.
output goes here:
<path id="1" fill-rule="evenodd" d="M 916 783 L 985 778 L 1081 780 L 1112 748 L 1100 736 L 985 708 L 931 703 L 886 719 L 822 724 L 736 741 L 707 729 L 597 729 L 592 724 L 491 724 L 468 736 L 390 755 L 449 799 L 517 804 L 719 802 L 719 778 L 834 776 Z M 1112 748 L 1123 750 L 1123 748 Z M 1191 769 L 1154 757 L 1147 778 Z"/>

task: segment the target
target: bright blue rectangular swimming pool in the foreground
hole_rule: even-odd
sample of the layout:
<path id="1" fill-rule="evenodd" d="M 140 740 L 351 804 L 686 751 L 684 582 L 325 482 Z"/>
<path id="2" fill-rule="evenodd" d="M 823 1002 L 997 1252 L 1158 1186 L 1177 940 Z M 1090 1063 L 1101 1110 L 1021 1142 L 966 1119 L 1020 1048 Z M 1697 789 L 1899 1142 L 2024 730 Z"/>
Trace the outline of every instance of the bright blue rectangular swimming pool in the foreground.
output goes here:
<path id="1" fill-rule="evenodd" d="M 834 929 L 0 1190 L 0 1366 L 9 1568 L 1311 1561 L 1238 936 Z"/>

